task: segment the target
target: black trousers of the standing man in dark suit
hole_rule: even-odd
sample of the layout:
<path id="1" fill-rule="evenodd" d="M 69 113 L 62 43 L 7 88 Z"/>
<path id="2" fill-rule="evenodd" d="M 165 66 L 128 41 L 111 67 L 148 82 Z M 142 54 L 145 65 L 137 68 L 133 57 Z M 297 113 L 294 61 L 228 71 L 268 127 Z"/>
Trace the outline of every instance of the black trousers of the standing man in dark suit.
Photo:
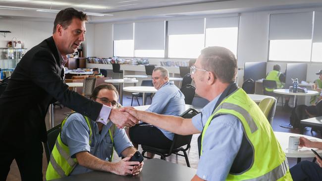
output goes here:
<path id="1" fill-rule="evenodd" d="M 0 181 L 6 180 L 13 159 L 17 162 L 21 181 L 43 180 L 43 144 L 41 141 L 30 145 L 28 150 L 21 150 L 21 148 L 4 143 L 1 145 L 0 159 Z"/>

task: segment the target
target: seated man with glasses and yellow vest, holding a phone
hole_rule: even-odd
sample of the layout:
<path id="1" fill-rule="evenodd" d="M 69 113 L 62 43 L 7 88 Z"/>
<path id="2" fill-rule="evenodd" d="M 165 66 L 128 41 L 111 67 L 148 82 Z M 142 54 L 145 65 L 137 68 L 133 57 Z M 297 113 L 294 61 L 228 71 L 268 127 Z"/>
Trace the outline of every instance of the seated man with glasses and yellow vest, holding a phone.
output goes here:
<path id="1" fill-rule="evenodd" d="M 113 108 L 120 107 L 117 90 L 110 84 L 97 86 L 91 98 Z M 103 125 L 79 113 L 70 114 L 61 125 L 47 168 L 47 180 L 93 170 L 117 175 L 137 175 L 141 172 L 143 162 L 129 162 L 136 148 L 124 129 L 117 128 L 110 121 Z M 112 163 L 113 149 L 125 158 Z"/>

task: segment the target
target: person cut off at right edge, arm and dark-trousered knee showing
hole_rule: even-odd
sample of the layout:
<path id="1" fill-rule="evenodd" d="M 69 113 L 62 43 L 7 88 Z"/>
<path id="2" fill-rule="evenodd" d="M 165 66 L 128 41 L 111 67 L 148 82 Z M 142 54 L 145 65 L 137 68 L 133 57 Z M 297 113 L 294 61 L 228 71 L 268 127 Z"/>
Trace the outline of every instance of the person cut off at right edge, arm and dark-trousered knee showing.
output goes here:
<path id="1" fill-rule="evenodd" d="M 322 149 L 322 142 L 300 137 L 299 146 Z M 317 163 L 306 160 L 290 168 L 293 181 L 322 181 L 322 160 L 318 156 L 315 157 Z"/>

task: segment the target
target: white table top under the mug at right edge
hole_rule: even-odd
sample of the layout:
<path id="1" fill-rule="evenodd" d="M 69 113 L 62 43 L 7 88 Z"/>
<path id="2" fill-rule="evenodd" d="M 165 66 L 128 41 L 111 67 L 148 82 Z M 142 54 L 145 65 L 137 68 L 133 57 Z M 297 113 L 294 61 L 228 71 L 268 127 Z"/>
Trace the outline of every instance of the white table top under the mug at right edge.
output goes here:
<path id="1" fill-rule="evenodd" d="M 313 141 L 321 141 L 322 139 L 312 136 L 294 134 L 294 133 L 284 133 L 284 132 L 274 132 L 279 144 L 281 145 L 283 151 L 286 154 L 286 157 L 291 158 L 311 158 L 315 157 L 315 154 L 311 151 L 311 148 L 301 147 L 298 150 L 289 150 L 288 149 L 288 139 L 290 136 L 303 136 Z M 320 155 L 322 154 L 322 149 L 312 148 L 316 150 Z"/>

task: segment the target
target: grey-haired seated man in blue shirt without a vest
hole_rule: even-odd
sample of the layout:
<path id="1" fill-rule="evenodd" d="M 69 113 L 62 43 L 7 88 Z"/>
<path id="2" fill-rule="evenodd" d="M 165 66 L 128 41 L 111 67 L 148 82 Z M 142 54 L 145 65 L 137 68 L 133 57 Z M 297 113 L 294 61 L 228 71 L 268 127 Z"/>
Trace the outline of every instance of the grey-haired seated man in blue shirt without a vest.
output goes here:
<path id="1" fill-rule="evenodd" d="M 158 91 L 146 111 L 163 115 L 181 115 L 185 111 L 184 95 L 169 82 L 169 72 L 163 67 L 156 67 L 152 73 L 152 80 L 154 88 Z M 173 136 L 173 133 L 152 125 L 140 124 L 129 129 L 129 137 L 136 148 L 138 144 L 143 144 L 168 149 L 172 144 Z M 148 153 L 148 157 L 153 158 L 154 155 Z"/>

